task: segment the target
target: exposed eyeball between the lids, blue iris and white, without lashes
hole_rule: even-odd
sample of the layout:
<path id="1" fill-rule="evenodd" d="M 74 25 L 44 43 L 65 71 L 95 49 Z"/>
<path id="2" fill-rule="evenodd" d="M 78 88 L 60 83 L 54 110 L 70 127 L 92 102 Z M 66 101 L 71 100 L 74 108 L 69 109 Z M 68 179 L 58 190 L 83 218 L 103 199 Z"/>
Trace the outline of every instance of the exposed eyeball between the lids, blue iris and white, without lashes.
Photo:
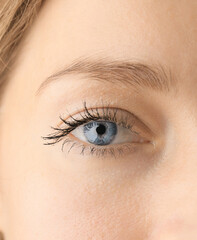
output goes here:
<path id="1" fill-rule="evenodd" d="M 91 121 L 77 127 L 71 134 L 83 142 L 101 146 L 145 141 L 131 129 L 111 121 Z"/>

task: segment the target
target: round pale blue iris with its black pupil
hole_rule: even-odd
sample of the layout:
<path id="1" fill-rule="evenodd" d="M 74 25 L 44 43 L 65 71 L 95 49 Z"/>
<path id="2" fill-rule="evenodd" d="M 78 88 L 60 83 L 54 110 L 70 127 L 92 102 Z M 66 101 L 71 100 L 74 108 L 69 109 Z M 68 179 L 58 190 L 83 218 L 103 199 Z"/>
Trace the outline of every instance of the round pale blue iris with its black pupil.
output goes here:
<path id="1" fill-rule="evenodd" d="M 108 145 L 117 134 L 117 125 L 107 121 L 93 121 L 84 125 L 83 132 L 88 142 L 95 145 Z"/>

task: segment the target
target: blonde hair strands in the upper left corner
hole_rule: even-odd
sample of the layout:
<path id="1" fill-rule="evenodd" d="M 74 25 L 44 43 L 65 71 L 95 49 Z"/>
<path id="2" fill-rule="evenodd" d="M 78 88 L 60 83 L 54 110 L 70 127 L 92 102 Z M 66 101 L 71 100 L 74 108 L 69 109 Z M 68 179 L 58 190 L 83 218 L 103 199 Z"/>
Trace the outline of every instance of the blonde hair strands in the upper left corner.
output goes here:
<path id="1" fill-rule="evenodd" d="M 43 0 L 0 0 L 0 88 L 17 46 L 42 3 Z"/>

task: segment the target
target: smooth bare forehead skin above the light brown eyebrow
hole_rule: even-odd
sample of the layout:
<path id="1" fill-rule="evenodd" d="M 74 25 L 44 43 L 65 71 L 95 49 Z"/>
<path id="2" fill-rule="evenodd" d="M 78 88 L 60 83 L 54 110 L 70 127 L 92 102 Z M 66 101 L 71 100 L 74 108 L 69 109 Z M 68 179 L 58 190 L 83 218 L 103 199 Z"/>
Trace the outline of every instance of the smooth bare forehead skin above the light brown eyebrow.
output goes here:
<path id="1" fill-rule="evenodd" d="M 27 35 L 23 69 L 39 66 L 43 79 L 78 57 L 104 55 L 159 62 L 180 81 L 187 77 L 194 83 L 196 5 L 183 0 L 46 1 Z"/>

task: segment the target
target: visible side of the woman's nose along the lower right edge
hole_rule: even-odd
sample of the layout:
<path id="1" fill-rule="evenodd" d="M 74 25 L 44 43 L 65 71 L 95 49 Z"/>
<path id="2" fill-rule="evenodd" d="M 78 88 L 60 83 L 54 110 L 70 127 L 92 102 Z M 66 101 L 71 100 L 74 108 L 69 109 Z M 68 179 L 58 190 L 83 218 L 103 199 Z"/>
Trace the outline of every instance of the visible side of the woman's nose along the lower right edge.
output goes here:
<path id="1" fill-rule="evenodd" d="M 158 169 L 150 240 L 197 239 L 197 127 L 182 126 Z"/>

